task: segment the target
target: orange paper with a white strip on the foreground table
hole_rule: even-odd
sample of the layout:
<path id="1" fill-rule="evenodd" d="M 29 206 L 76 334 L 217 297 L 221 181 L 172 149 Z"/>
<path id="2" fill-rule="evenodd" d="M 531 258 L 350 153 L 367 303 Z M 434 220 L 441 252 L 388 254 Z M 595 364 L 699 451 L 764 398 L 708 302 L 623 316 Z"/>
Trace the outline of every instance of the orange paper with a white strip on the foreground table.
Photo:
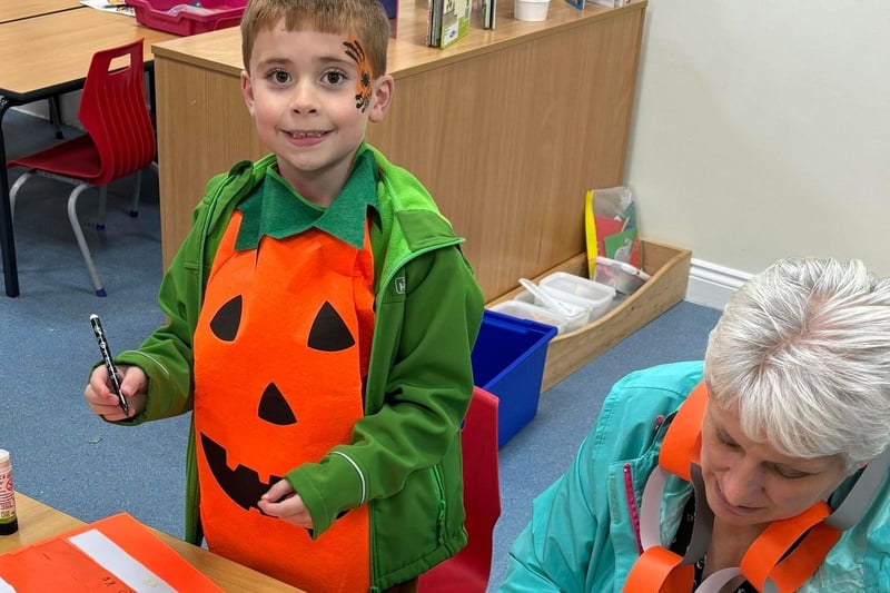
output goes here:
<path id="1" fill-rule="evenodd" d="M 0 554 L 0 591 L 222 593 L 126 513 Z"/>

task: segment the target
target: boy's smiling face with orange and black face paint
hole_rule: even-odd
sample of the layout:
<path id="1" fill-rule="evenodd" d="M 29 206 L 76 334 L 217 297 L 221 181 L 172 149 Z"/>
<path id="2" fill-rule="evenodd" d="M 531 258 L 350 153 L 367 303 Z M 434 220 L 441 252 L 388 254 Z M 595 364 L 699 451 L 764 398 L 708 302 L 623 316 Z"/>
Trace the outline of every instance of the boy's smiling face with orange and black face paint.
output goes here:
<path id="1" fill-rule="evenodd" d="M 370 72 L 362 40 L 288 31 L 284 22 L 257 34 L 249 73 L 241 73 L 247 108 L 279 174 L 319 206 L 339 192 L 392 88 L 392 77 Z"/>

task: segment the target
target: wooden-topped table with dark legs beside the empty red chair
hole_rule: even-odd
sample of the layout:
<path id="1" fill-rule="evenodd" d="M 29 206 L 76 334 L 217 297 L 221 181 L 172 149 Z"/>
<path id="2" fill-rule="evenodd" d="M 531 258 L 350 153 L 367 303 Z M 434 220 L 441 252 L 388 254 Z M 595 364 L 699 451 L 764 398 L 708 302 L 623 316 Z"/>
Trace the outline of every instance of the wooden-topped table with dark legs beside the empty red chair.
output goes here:
<path id="1" fill-rule="evenodd" d="M 19 295 L 16 244 L 9 206 L 9 175 L 2 134 L 6 112 L 17 105 L 77 90 L 83 86 L 96 51 L 145 38 L 151 45 L 176 36 L 142 27 L 132 17 L 101 10 L 71 10 L 0 24 L 0 248 L 7 296 Z"/>

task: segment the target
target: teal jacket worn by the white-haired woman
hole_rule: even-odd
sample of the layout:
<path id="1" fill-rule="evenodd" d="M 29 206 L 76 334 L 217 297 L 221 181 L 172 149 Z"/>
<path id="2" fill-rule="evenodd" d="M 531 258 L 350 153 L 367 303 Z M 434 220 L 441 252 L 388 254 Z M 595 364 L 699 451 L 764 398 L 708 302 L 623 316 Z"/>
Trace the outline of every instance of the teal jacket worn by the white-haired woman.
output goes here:
<path id="1" fill-rule="evenodd" d="M 702 377 L 701 363 L 627 375 L 610 392 L 565 474 L 534 502 L 531 523 L 510 551 L 503 593 L 620 592 L 637 557 L 633 520 L 670 417 Z M 665 422 L 665 418 L 668 422 Z M 835 495 L 846 494 L 851 480 Z M 662 541 L 680 524 L 690 487 L 669 482 Z M 829 551 L 803 593 L 890 591 L 890 478 L 862 518 Z"/>

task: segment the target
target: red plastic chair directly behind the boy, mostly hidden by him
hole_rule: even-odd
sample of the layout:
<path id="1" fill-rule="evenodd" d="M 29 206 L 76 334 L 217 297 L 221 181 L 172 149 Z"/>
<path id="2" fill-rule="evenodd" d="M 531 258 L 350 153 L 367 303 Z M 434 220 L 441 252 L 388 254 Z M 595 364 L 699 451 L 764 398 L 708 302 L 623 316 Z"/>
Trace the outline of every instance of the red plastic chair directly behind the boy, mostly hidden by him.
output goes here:
<path id="1" fill-rule="evenodd" d="M 461 446 L 468 541 L 457 555 L 421 575 L 418 593 L 485 593 L 492 573 L 494 526 L 501 516 L 497 397 L 475 387 Z"/>

